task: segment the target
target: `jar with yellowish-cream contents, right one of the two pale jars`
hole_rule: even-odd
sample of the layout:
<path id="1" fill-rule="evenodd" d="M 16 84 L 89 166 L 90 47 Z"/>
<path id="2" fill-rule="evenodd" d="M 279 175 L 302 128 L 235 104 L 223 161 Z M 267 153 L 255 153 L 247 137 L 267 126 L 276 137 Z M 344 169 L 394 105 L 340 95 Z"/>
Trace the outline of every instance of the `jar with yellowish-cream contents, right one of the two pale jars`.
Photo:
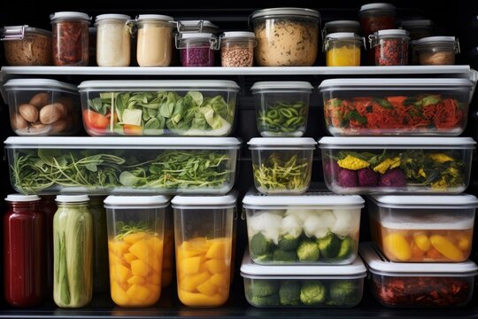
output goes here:
<path id="1" fill-rule="evenodd" d="M 141 14 L 136 17 L 138 30 L 136 59 L 139 66 L 169 66 L 173 53 L 172 17 Z"/>

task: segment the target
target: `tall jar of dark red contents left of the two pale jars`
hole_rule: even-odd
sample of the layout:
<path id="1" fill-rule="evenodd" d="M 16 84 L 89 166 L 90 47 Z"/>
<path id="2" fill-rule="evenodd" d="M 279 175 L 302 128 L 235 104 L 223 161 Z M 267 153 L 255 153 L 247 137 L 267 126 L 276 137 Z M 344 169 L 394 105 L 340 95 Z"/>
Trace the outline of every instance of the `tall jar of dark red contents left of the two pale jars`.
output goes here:
<path id="1" fill-rule="evenodd" d="M 55 12 L 50 15 L 55 66 L 88 66 L 90 19 L 82 12 Z"/>

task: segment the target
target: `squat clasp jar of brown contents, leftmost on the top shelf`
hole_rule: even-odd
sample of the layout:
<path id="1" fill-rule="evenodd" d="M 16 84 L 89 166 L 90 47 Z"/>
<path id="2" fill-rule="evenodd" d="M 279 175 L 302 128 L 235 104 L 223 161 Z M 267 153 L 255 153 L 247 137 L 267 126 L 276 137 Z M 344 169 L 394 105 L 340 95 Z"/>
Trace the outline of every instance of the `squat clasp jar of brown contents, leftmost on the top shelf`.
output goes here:
<path id="1" fill-rule="evenodd" d="M 38 27 L 13 26 L 0 30 L 9 66 L 51 66 L 51 32 Z"/>

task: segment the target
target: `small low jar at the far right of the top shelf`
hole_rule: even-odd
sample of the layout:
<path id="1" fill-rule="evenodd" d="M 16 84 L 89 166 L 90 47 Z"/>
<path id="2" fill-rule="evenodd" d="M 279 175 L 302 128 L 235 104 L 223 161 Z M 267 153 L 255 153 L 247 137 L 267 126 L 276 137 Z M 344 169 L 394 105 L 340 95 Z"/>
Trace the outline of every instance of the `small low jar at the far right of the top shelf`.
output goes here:
<path id="1" fill-rule="evenodd" d="M 454 36 L 428 36 L 414 43 L 420 66 L 454 65 L 459 41 Z"/>

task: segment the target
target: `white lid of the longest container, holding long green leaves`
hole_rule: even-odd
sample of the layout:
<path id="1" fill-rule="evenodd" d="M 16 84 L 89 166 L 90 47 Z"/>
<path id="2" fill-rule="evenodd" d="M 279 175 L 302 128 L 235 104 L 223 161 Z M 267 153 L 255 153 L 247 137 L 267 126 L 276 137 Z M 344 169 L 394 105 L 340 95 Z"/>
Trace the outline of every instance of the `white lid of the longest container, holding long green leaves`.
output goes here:
<path id="1" fill-rule="evenodd" d="M 241 142 L 235 137 L 124 137 L 124 136 L 10 136 L 5 148 L 50 149 L 239 149 Z"/>

